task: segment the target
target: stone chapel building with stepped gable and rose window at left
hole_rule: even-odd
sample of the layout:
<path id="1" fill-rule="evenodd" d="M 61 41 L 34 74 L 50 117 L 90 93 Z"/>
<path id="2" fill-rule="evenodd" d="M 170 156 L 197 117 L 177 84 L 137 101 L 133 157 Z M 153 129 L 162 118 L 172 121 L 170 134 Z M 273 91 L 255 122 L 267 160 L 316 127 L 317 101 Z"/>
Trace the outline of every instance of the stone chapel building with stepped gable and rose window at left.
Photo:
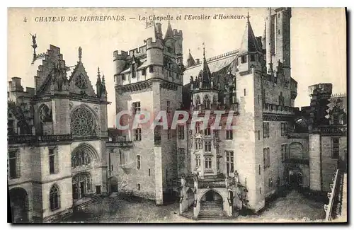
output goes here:
<path id="1" fill-rule="evenodd" d="M 16 77 L 9 82 L 8 189 L 14 222 L 55 222 L 107 190 L 104 76 L 98 72 L 95 93 L 81 52 L 76 66 L 67 67 L 59 47 L 50 45 L 33 62 L 35 88 L 23 91 Z"/>

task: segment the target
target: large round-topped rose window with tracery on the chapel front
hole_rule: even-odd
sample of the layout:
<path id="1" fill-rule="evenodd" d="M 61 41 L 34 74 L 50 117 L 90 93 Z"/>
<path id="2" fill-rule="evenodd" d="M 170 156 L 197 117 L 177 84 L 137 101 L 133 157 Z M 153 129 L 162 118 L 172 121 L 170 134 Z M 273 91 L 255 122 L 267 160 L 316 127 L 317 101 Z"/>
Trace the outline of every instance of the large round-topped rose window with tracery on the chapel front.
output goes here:
<path id="1" fill-rule="evenodd" d="M 93 113 L 83 107 L 73 111 L 71 117 L 71 131 L 76 136 L 93 137 L 98 134 L 98 125 Z"/>

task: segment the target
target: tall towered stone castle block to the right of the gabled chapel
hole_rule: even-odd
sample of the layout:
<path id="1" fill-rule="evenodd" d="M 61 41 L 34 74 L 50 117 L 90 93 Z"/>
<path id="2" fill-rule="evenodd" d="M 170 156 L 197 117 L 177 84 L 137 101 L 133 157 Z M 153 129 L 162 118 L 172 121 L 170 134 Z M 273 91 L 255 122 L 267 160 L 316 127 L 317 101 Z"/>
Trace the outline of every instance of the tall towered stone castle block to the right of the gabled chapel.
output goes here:
<path id="1" fill-rule="evenodd" d="M 162 39 L 161 24 L 156 23 L 146 45 L 129 52 L 114 52 L 117 113 L 129 110 L 134 101 L 155 115 L 165 110 L 168 102 L 171 111 L 189 113 L 185 124 L 161 132 L 161 143 L 165 143 L 161 147 L 153 139 L 154 130 L 142 129 L 142 140 L 138 142 L 132 139 L 132 130 L 129 134 L 118 131 L 118 136 L 129 136 L 129 147 L 124 148 L 130 152 L 132 162 L 144 152 L 142 168 L 149 168 L 148 172 L 132 168 L 130 173 L 118 169 L 115 176 L 124 180 L 124 190 L 156 200 L 158 205 L 173 193 L 180 197 L 181 214 L 193 209 L 194 218 L 202 216 L 203 204 L 214 201 L 212 207 L 223 204 L 223 213 L 229 217 L 242 208 L 258 212 L 268 197 L 287 185 L 326 192 L 338 165 L 329 156 L 333 149 L 329 145 L 331 137 L 321 137 L 329 136 L 329 131 L 324 126 L 319 132 L 313 130 L 315 125 L 325 124 L 310 118 L 310 107 L 294 107 L 297 81 L 290 75 L 290 18 L 291 8 L 268 8 L 263 37 L 253 34 L 248 18 L 239 50 L 210 58 L 205 57 L 204 50 L 202 59 L 194 59 L 189 53 L 186 68 L 181 59 L 177 61 L 173 56 L 170 24 L 165 36 L 169 39 Z M 183 88 L 181 75 L 170 79 L 165 74 L 171 70 L 169 63 L 179 67 L 177 72 L 183 71 Z M 135 74 L 132 68 L 136 68 Z M 162 88 L 162 81 L 177 86 L 173 90 L 172 86 Z M 316 86 L 310 86 L 310 91 L 314 89 Z M 312 98 L 317 119 L 329 104 L 325 103 L 325 94 Z M 331 96 L 331 92 L 327 94 Z M 335 108 L 333 103 L 331 100 L 328 106 Z M 225 130 L 225 125 L 222 130 L 196 130 L 193 113 L 203 116 L 209 111 L 215 119 L 215 110 L 225 110 L 222 117 L 230 110 L 235 112 L 232 124 L 236 130 Z M 321 130 L 327 134 L 321 134 Z M 340 157 L 345 159 L 346 132 L 338 134 Z M 120 144 L 113 144 L 114 152 L 119 152 Z M 138 192 L 136 183 L 146 192 Z M 211 195 L 206 198 L 208 190 L 222 202 L 207 201 L 212 199 Z"/>

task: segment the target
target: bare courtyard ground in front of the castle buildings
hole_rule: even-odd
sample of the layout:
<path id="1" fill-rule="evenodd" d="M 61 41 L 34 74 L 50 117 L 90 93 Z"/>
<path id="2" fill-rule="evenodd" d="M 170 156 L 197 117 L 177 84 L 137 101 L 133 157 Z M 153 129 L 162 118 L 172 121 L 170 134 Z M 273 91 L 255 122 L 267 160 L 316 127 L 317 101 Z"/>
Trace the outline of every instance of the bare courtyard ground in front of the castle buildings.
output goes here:
<path id="1" fill-rule="evenodd" d="M 103 200 L 75 212 L 62 222 L 76 223 L 157 223 L 157 222 L 321 222 L 324 203 L 309 200 L 292 191 L 285 197 L 270 202 L 259 214 L 239 216 L 234 219 L 194 221 L 178 214 L 178 202 L 156 206 L 147 200 L 122 200 L 120 197 L 104 197 Z"/>

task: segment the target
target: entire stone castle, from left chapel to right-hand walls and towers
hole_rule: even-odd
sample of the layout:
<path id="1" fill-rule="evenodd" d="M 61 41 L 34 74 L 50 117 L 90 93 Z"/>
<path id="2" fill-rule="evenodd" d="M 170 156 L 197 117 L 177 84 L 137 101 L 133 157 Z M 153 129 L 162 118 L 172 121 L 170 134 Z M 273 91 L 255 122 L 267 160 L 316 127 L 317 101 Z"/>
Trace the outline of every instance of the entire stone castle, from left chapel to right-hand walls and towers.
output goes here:
<path id="1" fill-rule="evenodd" d="M 223 111 L 225 120 L 232 112 L 235 130 L 191 117 L 177 129 L 108 129 L 104 77 L 98 71 L 95 93 L 81 49 L 67 67 L 51 46 L 38 57 L 35 89 L 10 82 L 8 187 L 16 217 L 48 222 L 118 193 L 179 202 L 180 214 L 193 219 L 226 218 L 258 212 L 287 186 L 329 192 L 333 172 L 346 165 L 346 96 L 316 84 L 310 105 L 295 108 L 291 16 L 291 8 L 268 8 L 263 36 L 247 17 L 239 49 L 217 57 L 203 48 L 201 60 L 188 53 L 184 62 L 183 33 L 169 22 L 165 34 L 150 23 L 141 47 L 113 52 L 116 113 L 167 111 L 170 120 L 184 110 L 215 120 Z M 130 124 L 132 116 L 117 122 Z"/>

